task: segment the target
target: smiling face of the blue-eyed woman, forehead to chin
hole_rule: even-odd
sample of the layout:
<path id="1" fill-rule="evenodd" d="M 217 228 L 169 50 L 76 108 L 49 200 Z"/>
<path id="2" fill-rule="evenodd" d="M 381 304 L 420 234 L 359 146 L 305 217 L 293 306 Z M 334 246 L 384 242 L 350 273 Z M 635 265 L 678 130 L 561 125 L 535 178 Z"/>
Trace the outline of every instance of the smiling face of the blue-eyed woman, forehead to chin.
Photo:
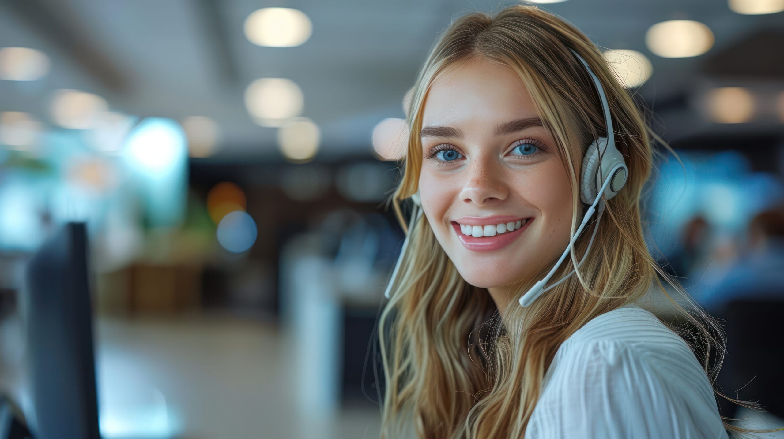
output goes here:
<path id="1" fill-rule="evenodd" d="M 441 74 L 422 127 L 423 210 L 466 282 L 503 286 L 560 257 L 572 189 L 514 70 L 476 60 Z"/>

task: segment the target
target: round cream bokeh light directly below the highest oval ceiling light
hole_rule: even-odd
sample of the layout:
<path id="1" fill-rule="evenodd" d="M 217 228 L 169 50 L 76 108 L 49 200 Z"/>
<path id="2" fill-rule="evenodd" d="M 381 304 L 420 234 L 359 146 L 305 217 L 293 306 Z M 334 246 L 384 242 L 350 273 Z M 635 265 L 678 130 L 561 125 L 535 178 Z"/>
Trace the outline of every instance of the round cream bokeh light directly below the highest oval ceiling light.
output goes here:
<path id="1" fill-rule="evenodd" d="M 304 103 L 299 86 L 282 77 L 263 77 L 245 89 L 245 107 L 253 121 L 263 127 L 281 127 L 302 113 Z"/>

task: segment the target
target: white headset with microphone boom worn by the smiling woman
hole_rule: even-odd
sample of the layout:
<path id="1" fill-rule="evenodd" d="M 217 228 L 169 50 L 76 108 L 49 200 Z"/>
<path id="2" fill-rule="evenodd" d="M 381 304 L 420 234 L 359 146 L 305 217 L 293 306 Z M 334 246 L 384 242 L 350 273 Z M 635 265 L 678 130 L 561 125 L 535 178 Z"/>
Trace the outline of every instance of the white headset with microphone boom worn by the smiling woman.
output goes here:
<path id="1" fill-rule="evenodd" d="M 623 155 L 620 153 L 618 148 L 615 147 L 615 135 L 612 132 L 612 117 L 610 116 L 610 107 L 607 103 L 607 96 L 604 95 L 604 88 L 601 86 L 601 81 L 599 81 L 599 78 L 593 74 L 593 70 L 590 69 L 588 63 L 586 63 L 586 60 L 583 59 L 582 56 L 579 56 L 579 54 L 574 50 L 572 50 L 572 53 L 574 53 L 580 62 L 583 63 L 583 66 L 585 66 L 588 74 L 590 74 L 590 77 L 593 78 L 593 84 L 596 85 L 599 98 L 601 99 L 601 106 L 604 110 L 604 124 L 607 127 L 607 137 L 600 137 L 599 139 L 594 140 L 593 143 L 591 143 L 590 146 L 588 146 L 586 149 L 585 156 L 583 157 L 583 167 L 580 171 L 580 200 L 586 206 L 590 205 L 586 211 L 585 216 L 583 217 L 583 222 L 580 224 L 579 228 L 577 228 L 577 232 L 574 236 L 572 236 L 572 239 L 569 242 L 569 245 L 566 247 L 566 250 L 564 250 L 564 253 L 561 254 L 561 258 L 558 259 L 557 263 L 550 270 L 550 272 L 547 273 L 544 279 L 536 282 L 530 290 L 520 297 L 520 304 L 524 307 L 532 304 L 534 300 L 542 295 L 542 293 L 550 290 L 551 288 L 554 288 L 554 286 L 564 282 L 564 280 L 568 279 L 570 275 L 574 274 L 575 270 L 572 270 L 572 272 L 569 272 L 568 275 L 565 275 L 563 279 L 545 288 L 545 284 L 550 281 L 550 279 L 555 274 L 555 271 L 558 269 L 558 267 L 561 266 L 561 264 L 564 262 L 564 259 L 566 259 L 566 256 L 569 254 L 569 248 L 579 238 L 580 234 L 583 232 L 583 228 L 585 228 L 586 224 L 593 216 L 593 213 L 598 210 L 599 215 L 597 216 L 596 225 L 594 225 L 593 228 L 593 234 L 591 235 L 590 241 L 588 242 L 586 253 L 583 255 L 583 259 L 577 263 L 575 269 L 579 268 L 579 266 L 583 264 L 583 261 L 585 261 L 585 258 L 590 251 L 590 247 L 593 245 L 593 238 L 596 237 L 596 232 L 599 229 L 599 221 L 601 220 L 601 215 L 604 212 L 606 200 L 611 199 L 613 196 L 615 196 L 615 194 L 619 193 L 623 185 L 626 184 L 626 178 L 629 174 L 628 167 L 626 167 L 626 161 L 623 160 Z M 604 195 L 604 200 L 602 200 L 602 195 Z M 417 191 L 416 194 L 414 194 L 411 198 L 414 202 L 414 209 L 412 212 L 411 221 L 408 224 L 408 233 L 406 234 L 405 241 L 403 242 L 400 257 L 397 258 L 397 263 L 395 264 L 394 270 L 392 271 L 392 278 L 387 285 L 387 290 L 384 292 L 384 297 L 387 298 L 390 297 L 390 290 L 392 290 L 394 281 L 397 279 L 397 270 L 400 268 L 400 263 L 405 255 L 406 249 L 408 248 L 408 236 L 411 236 L 412 228 L 416 224 L 416 221 L 419 220 L 419 217 L 423 212 L 422 204 L 419 200 L 419 191 Z"/>

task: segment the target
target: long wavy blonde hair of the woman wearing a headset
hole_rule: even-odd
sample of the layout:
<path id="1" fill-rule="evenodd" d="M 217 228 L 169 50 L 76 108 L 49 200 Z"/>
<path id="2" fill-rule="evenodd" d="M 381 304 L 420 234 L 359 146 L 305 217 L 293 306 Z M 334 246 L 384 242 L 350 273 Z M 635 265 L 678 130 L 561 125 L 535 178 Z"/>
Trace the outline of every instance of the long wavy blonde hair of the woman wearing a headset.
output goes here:
<path id="1" fill-rule="evenodd" d="M 593 81 L 569 49 L 586 59 L 604 86 L 616 145 L 629 167 L 628 181 L 608 200 L 596 243 L 576 275 L 528 308 L 515 306 L 514 299 L 549 271 L 553 261 L 543 261 L 531 281 L 522 280 L 517 287 L 502 324 L 487 290 L 463 280 L 426 217 L 405 220 L 403 211 L 418 189 L 423 160 L 423 103 L 434 78 L 447 68 L 481 58 L 515 70 L 568 170 L 574 234 L 585 209 L 577 180 L 581 160 L 590 142 L 604 135 L 604 115 Z M 673 308 L 691 322 L 688 337 L 692 345 L 700 342 L 692 349 L 715 383 L 724 352 L 722 332 L 662 270 L 644 241 L 641 195 L 656 154 L 651 142 L 666 143 L 644 122 L 593 42 L 535 6 L 514 5 L 495 16 L 470 13 L 441 34 L 409 93 L 408 151 L 401 182 L 390 198 L 409 243 L 379 318 L 386 383 L 381 437 L 522 437 L 543 376 L 564 340 L 597 315 L 640 300 L 654 283 L 667 294 L 661 279 L 686 300 L 688 311 L 670 298 Z M 584 232 L 571 246 L 571 261 L 582 258 L 589 236 Z M 572 270 L 571 261 L 554 279 Z M 711 361 L 714 354 L 718 357 Z"/>

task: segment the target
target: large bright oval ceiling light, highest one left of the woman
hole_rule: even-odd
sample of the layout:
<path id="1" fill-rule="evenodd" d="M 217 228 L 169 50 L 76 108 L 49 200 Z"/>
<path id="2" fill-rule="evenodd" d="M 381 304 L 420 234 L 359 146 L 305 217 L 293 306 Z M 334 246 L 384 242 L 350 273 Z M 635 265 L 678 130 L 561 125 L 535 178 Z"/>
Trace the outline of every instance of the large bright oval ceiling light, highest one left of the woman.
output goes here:
<path id="1" fill-rule="evenodd" d="M 310 38 L 313 25 L 299 9 L 264 8 L 245 19 L 245 37 L 255 45 L 294 47 Z"/>

